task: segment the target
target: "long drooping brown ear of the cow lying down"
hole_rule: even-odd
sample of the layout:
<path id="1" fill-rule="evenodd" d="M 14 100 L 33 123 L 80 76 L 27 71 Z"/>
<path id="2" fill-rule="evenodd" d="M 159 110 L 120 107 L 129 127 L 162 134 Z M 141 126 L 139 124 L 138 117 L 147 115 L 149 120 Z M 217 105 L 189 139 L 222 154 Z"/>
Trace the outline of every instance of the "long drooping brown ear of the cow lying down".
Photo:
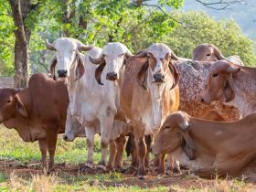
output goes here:
<path id="1" fill-rule="evenodd" d="M 182 131 L 183 140 L 182 140 L 182 149 L 185 154 L 188 156 L 189 160 L 194 160 L 197 158 L 197 149 L 196 145 L 194 144 L 193 140 L 191 139 L 188 130 Z"/>

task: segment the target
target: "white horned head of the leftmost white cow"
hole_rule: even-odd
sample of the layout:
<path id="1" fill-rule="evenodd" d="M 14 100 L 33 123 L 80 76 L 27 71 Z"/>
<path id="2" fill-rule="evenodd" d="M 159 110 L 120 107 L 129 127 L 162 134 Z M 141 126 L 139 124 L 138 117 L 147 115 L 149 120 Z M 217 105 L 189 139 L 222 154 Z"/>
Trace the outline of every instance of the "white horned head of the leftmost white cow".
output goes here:
<path id="1" fill-rule="evenodd" d="M 70 69 L 74 68 L 75 78 L 80 79 L 84 73 L 84 60 L 80 51 L 88 51 L 93 48 L 86 46 L 79 40 L 69 37 L 59 37 L 52 44 L 46 41 L 46 46 L 50 50 L 55 50 L 56 54 L 50 65 L 50 72 L 55 78 L 55 67 L 58 64 L 59 77 L 69 77 Z"/>

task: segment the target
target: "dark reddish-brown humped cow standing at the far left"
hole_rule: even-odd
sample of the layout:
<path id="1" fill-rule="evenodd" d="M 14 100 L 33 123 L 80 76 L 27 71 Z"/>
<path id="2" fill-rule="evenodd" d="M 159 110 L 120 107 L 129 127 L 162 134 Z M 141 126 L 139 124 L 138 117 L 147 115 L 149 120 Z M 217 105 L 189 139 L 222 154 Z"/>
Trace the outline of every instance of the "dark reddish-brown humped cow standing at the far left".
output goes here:
<path id="1" fill-rule="evenodd" d="M 48 170 L 52 170 L 57 136 L 64 133 L 69 104 L 64 82 L 37 73 L 31 76 L 24 90 L 0 89 L 0 98 L 0 123 L 15 128 L 25 142 L 38 141 L 44 166 L 48 150 Z M 74 120 L 73 125 L 80 123 Z M 77 134 L 84 136 L 84 130 L 80 131 Z"/>

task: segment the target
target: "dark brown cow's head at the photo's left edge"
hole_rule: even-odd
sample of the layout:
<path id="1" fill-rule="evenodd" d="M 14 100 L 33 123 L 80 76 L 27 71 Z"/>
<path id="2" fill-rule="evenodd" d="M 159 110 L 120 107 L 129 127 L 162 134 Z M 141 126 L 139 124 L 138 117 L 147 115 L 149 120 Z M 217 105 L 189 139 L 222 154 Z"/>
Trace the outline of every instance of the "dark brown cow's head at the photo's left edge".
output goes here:
<path id="1" fill-rule="evenodd" d="M 17 94 L 19 89 L 0 89 L 0 123 L 9 120 L 16 113 L 27 117 L 27 109 Z"/>

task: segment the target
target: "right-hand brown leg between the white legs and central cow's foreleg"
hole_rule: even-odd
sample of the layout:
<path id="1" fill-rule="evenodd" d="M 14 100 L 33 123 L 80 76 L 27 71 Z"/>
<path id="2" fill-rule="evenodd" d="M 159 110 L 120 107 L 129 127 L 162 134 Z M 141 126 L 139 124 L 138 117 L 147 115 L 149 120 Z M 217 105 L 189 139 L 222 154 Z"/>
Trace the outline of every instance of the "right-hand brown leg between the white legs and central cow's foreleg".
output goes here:
<path id="1" fill-rule="evenodd" d="M 117 152 L 114 161 L 114 168 L 121 169 L 123 167 L 123 151 L 126 139 L 125 134 L 122 133 L 116 140 L 115 144 L 117 147 Z"/>

